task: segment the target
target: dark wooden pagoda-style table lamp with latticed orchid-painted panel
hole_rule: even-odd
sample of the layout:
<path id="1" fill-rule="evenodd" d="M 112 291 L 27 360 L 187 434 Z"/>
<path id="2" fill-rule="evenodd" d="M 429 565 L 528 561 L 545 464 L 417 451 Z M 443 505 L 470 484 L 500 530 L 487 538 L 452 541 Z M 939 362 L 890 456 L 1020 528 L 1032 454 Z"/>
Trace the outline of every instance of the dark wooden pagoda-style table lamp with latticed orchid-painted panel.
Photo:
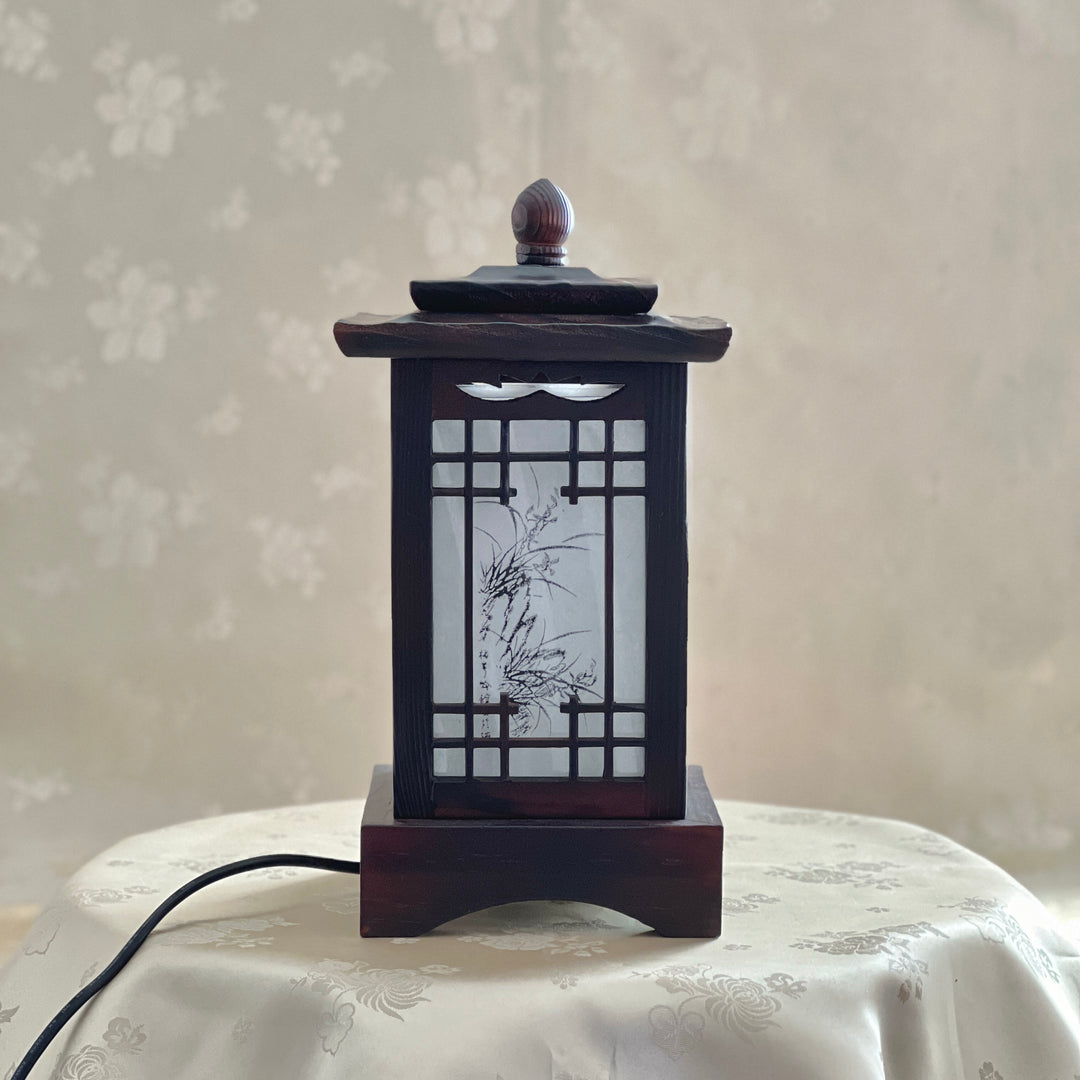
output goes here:
<path id="1" fill-rule="evenodd" d="M 731 328 L 565 267 L 549 180 L 512 225 L 517 266 L 334 327 L 393 357 L 394 762 L 364 813 L 361 933 L 557 899 L 715 936 L 724 828 L 686 766 L 686 365 Z"/>

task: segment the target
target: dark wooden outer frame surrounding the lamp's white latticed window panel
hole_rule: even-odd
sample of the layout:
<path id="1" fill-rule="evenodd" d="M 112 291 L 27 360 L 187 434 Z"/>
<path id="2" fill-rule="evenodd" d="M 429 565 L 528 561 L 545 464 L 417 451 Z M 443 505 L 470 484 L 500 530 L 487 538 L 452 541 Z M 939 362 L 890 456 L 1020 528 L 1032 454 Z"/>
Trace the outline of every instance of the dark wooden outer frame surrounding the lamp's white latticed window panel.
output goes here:
<path id="1" fill-rule="evenodd" d="M 542 370 L 541 370 L 542 367 Z M 488 403 L 460 382 L 622 383 L 595 406 L 544 394 Z M 394 813 L 430 818 L 679 819 L 686 793 L 686 365 L 395 359 L 391 365 Z M 613 413 L 612 413 L 613 410 Z M 646 700 L 644 778 L 443 779 L 432 769 L 431 421 L 644 418 Z M 610 672 L 610 663 L 607 664 Z M 611 735 L 610 712 L 606 723 Z M 467 730 L 471 714 L 467 712 Z M 572 728 L 571 728 L 572 730 Z"/>

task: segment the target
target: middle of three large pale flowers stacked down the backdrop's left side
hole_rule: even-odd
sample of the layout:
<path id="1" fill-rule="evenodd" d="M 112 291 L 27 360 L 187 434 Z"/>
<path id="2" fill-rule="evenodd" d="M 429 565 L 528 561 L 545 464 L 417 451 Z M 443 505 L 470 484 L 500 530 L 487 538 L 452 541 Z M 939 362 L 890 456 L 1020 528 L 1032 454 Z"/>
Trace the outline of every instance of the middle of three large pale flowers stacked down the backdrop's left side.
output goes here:
<path id="1" fill-rule="evenodd" d="M 86 305 L 86 318 L 105 335 L 107 364 L 134 359 L 157 364 L 176 329 L 179 289 L 164 262 L 118 267 L 118 253 L 107 251 L 86 265 L 85 274 L 100 283 L 106 296 Z"/>

